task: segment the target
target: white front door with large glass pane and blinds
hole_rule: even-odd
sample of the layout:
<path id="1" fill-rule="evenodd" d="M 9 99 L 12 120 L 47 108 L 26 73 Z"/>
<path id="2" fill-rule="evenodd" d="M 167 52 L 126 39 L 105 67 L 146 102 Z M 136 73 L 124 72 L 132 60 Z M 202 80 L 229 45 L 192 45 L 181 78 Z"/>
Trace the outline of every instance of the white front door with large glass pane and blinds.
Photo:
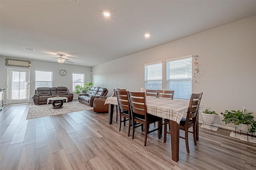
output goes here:
<path id="1" fill-rule="evenodd" d="M 30 70 L 8 68 L 7 74 L 7 103 L 29 103 Z"/>

